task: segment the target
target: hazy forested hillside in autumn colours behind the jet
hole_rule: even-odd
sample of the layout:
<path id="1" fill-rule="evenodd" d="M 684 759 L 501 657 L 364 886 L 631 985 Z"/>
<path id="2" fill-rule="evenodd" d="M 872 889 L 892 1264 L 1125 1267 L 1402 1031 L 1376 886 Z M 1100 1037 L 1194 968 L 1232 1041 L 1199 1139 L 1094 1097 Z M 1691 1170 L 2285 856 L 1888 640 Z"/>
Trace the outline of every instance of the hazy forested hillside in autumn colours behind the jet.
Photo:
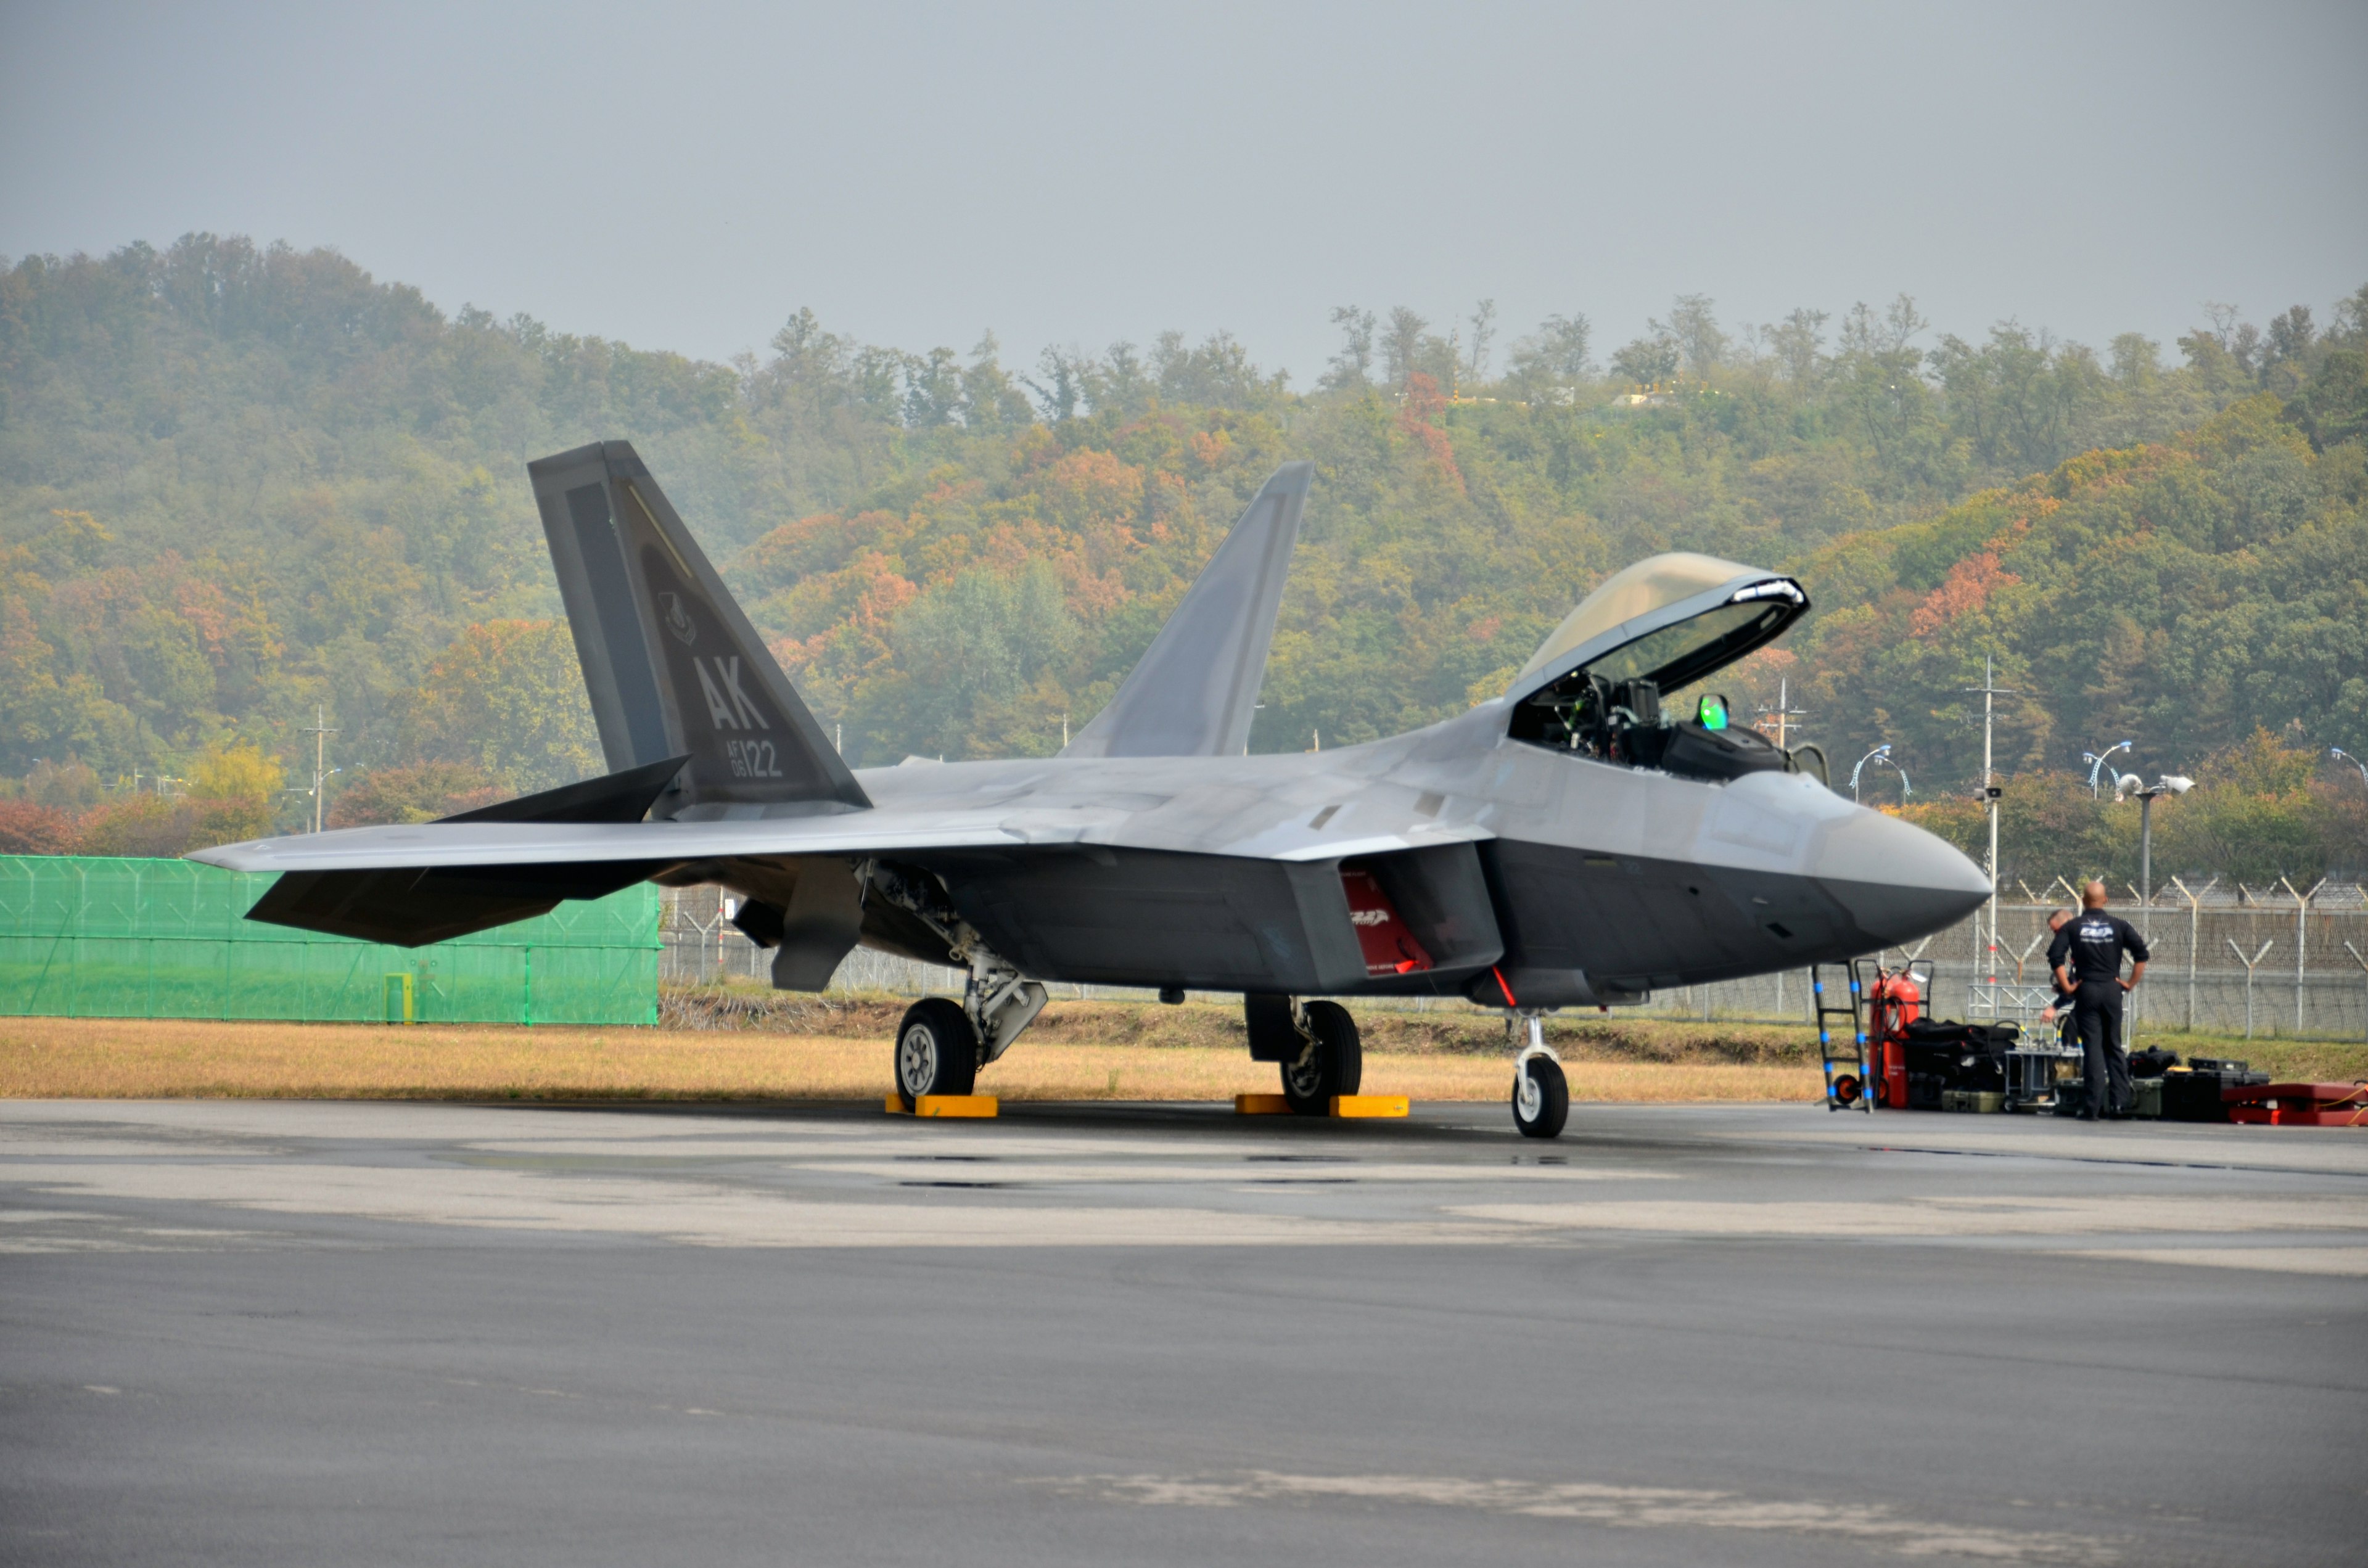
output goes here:
<path id="1" fill-rule="evenodd" d="M 1319 471 L 1262 751 L 1489 696 L 1669 547 L 1795 568 L 1819 613 L 1724 685 L 1774 706 L 1790 677 L 1797 734 L 1845 767 L 1892 741 L 1918 796 L 1977 782 L 1982 654 L 2020 692 L 2020 775 L 2119 739 L 2153 770 L 2254 730 L 2368 741 L 2368 289 L 2325 332 L 2216 310 L 2103 353 L 1935 334 L 1906 296 L 1762 327 L 1686 296 L 1613 351 L 1584 315 L 1511 343 L 1487 306 L 1333 320 L 1305 391 L 1222 334 L 1014 369 L 992 334 L 907 353 L 810 313 L 706 365 L 448 317 L 327 251 L 19 261 L 0 775 L 71 834 L 135 782 L 308 782 L 315 708 L 341 820 L 597 770 L 523 464 L 601 436 L 639 445 L 857 765 L 1056 748 L 1286 457 Z"/>

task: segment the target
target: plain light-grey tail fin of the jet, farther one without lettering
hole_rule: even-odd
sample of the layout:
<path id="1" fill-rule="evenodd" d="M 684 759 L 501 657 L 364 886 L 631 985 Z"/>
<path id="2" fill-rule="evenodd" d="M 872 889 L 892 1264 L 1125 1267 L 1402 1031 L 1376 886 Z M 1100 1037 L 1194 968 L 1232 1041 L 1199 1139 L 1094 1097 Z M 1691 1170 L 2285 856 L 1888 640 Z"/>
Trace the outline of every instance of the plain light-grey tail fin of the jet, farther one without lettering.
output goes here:
<path id="1" fill-rule="evenodd" d="M 1238 756 L 1250 744 L 1274 611 L 1300 542 L 1312 462 L 1286 462 L 1217 545 L 1111 706 L 1077 732 L 1075 758 Z"/>

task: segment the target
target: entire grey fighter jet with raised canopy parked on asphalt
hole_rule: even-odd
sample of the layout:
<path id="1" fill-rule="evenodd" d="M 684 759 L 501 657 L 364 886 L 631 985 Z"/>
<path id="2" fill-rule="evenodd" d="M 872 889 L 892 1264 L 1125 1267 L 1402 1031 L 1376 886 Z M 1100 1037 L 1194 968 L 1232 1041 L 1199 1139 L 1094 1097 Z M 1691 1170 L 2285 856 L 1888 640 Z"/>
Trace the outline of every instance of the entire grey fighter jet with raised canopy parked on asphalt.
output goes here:
<path id="1" fill-rule="evenodd" d="M 279 872 L 249 919 L 419 945 L 635 881 L 718 883 L 784 990 L 822 990 L 857 943 L 969 976 L 897 1028 L 907 1106 L 971 1092 L 1051 983 L 1241 995 L 1250 1056 L 1300 1113 L 1359 1087 L 1338 997 L 1466 997 L 1530 1021 L 1513 1120 L 1553 1137 L 1568 1082 L 1539 1014 L 1873 952 L 1989 898 L 1954 848 L 1833 793 L 1821 756 L 1703 687 L 1809 611 L 1774 571 L 1636 561 L 1501 696 L 1250 756 L 1314 474 L 1283 464 L 1061 756 L 850 770 L 632 445 L 528 474 L 611 772 L 201 850 Z"/>

